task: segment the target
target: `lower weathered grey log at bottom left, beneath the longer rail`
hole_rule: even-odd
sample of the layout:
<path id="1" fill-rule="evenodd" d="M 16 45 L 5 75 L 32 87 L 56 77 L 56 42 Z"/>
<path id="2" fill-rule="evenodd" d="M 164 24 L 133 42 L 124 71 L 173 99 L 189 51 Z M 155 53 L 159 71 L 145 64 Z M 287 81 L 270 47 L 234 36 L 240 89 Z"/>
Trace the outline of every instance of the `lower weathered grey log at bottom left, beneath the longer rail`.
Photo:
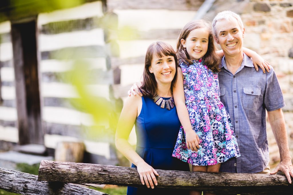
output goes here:
<path id="1" fill-rule="evenodd" d="M 0 189 L 25 195 L 107 195 L 103 192 L 89 189 L 77 184 L 60 182 L 40 182 L 37 175 L 0 167 Z"/>

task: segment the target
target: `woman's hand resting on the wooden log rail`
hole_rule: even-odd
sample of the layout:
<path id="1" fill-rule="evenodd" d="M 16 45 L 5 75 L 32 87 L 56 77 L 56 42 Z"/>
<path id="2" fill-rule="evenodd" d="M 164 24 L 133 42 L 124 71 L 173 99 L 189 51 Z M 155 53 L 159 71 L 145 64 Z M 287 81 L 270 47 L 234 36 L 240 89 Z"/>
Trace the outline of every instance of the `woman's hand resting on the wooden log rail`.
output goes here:
<path id="1" fill-rule="evenodd" d="M 159 176 L 159 174 L 146 162 L 142 161 L 141 163 L 137 164 L 137 172 L 139 174 L 142 185 L 144 185 L 145 182 L 147 187 L 151 187 L 152 189 L 154 189 L 154 184 L 158 185 L 155 175 Z"/>

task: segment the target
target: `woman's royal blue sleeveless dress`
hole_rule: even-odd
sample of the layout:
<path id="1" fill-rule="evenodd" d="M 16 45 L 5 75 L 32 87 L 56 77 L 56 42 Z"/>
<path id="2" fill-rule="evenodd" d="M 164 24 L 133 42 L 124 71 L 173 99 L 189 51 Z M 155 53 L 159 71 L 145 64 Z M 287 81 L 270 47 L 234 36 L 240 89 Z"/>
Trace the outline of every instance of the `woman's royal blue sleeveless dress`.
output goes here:
<path id="1" fill-rule="evenodd" d="M 163 98 L 168 100 L 170 98 Z M 148 97 L 142 97 L 142 110 L 135 122 L 137 136 L 137 154 L 154 169 L 190 171 L 188 163 L 172 157 L 180 121 L 176 106 L 167 110 L 154 103 Z M 135 167 L 132 164 L 131 167 Z M 157 188 L 147 189 L 128 187 L 127 195 L 133 194 L 188 194 L 187 190 Z"/>

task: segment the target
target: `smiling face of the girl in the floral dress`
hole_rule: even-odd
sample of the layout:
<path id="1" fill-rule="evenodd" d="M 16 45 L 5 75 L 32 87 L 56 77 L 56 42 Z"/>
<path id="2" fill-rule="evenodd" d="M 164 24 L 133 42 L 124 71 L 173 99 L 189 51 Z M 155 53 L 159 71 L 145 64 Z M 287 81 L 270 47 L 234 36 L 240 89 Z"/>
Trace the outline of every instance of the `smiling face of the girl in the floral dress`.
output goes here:
<path id="1" fill-rule="evenodd" d="M 196 28 L 190 31 L 186 40 L 181 39 L 181 44 L 192 60 L 198 60 L 207 53 L 209 31 L 207 28 Z"/>

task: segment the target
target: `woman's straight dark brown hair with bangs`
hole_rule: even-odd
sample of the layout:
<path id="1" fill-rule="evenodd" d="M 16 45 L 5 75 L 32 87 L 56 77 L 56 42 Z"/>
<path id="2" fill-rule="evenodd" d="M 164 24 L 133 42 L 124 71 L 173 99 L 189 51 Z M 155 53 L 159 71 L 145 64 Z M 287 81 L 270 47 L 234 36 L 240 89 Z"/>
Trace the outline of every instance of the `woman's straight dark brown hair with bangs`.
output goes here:
<path id="1" fill-rule="evenodd" d="M 154 57 L 154 55 L 157 55 L 158 57 L 163 56 L 173 56 L 175 60 L 175 75 L 171 82 L 171 92 L 173 86 L 175 86 L 176 80 L 177 80 L 177 69 L 178 69 L 178 61 L 176 57 L 176 53 L 171 45 L 169 45 L 166 42 L 163 41 L 157 41 L 152 43 L 147 48 L 147 53 L 144 61 L 144 72 L 142 74 L 143 76 L 143 82 L 142 86 L 140 87 L 140 90 L 144 96 L 149 96 L 151 98 L 154 98 L 157 95 L 157 81 L 154 76 L 154 73 L 149 72 L 149 67 L 151 66 L 151 61 Z"/>

